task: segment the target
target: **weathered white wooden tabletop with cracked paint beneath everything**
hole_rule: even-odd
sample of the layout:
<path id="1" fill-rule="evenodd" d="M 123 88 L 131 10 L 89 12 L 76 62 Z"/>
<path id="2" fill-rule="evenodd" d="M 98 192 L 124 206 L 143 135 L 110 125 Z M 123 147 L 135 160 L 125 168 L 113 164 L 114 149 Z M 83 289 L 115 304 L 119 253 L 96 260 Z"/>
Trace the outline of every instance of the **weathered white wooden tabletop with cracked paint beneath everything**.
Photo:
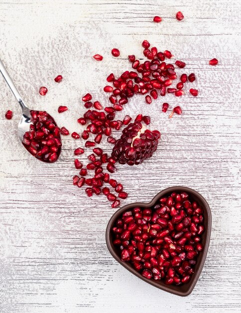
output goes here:
<path id="1" fill-rule="evenodd" d="M 149 113 L 162 141 L 150 160 L 119 166 L 113 176 L 129 192 L 123 204 L 186 185 L 207 198 L 213 214 L 208 257 L 190 296 L 134 277 L 105 244 L 114 209 L 104 196 L 87 198 L 72 185 L 78 143 L 64 137 L 52 165 L 30 157 L 17 141 L 20 108 L 0 78 L 0 312 L 240 311 L 240 10 L 237 0 L 0 0 L 0 58 L 26 103 L 47 109 L 71 131 L 81 131 L 81 96 L 90 91 L 107 103 L 105 77 L 128 69 L 128 54 L 141 57 L 143 39 L 186 61 L 199 96 L 167 96 L 184 111 L 172 119 L 161 112 L 163 99 L 150 112 L 143 97 L 132 98 L 119 116 Z M 163 22 L 153 23 L 155 15 Z M 121 51 L 118 59 L 113 47 Z M 95 53 L 102 62 L 91 58 Z M 213 57 L 218 66 L 208 64 Z M 57 74 L 64 77 L 60 84 L 53 81 Z M 41 85 L 49 89 L 45 97 Z M 56 113 L 60 104 L 69 110 Z"/>

